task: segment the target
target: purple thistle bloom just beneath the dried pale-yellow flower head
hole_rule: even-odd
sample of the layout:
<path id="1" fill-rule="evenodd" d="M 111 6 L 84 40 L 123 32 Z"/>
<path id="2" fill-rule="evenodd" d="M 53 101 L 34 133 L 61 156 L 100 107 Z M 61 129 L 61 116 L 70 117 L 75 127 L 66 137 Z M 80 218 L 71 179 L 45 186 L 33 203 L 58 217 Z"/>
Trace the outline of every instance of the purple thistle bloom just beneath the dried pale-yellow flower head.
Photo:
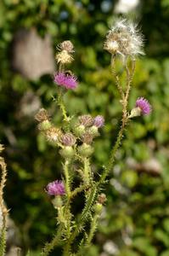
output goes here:
<path id="1" fill-rule="evenodd" d="M 54 82 L 59 86 L 63 86 L 66 89 L 76 89 L 77 79 L 75 75 L 65 74 L 63 72 L 56 73 L 54 75 Z"/>

